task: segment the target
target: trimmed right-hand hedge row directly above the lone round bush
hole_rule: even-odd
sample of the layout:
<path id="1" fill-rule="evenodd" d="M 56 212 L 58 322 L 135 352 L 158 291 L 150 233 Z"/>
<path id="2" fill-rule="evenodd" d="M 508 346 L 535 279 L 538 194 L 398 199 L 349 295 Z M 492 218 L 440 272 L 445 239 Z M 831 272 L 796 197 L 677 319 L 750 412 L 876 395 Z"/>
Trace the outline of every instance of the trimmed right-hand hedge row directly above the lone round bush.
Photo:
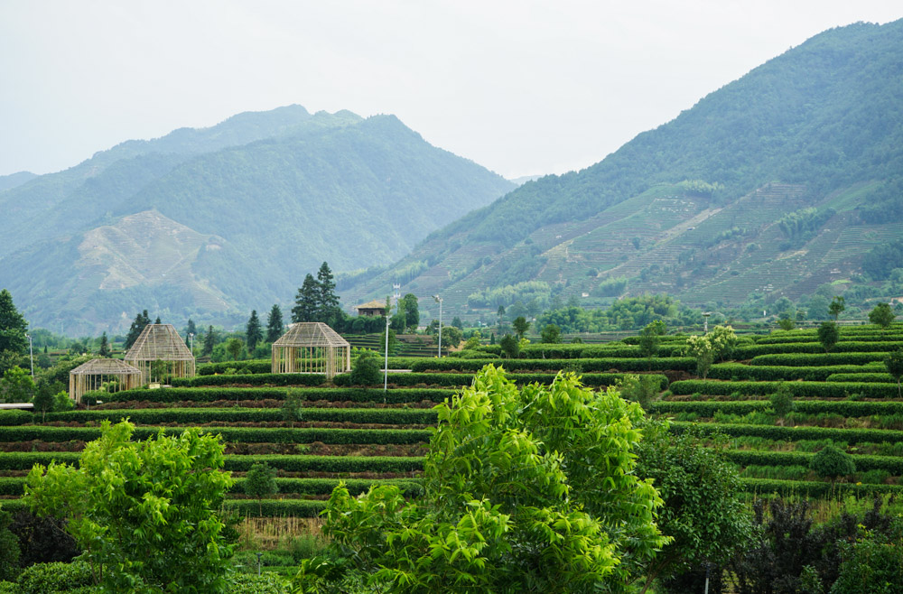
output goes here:
<path id="1" fill-rule="evenodd" d="M 672 422 L 671 431 L 698 431 L 711 435 L 723 433 L 731 437 L 762 437 L 768 440 L 833 440 L 847 443 L 903 442 L 903 432 L 881 429 L 833 429 L 830 427 L 777 427 L 775 425 L 743 425 L 719 422 Z"/>

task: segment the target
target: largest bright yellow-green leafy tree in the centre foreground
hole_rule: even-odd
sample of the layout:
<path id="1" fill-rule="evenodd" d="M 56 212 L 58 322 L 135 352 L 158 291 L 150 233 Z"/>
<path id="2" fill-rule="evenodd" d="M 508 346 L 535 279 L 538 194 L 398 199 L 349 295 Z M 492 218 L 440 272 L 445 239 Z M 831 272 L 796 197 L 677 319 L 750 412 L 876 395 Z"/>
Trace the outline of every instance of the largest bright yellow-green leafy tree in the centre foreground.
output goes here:
<path id="1" fill-rule="evenodd" d="M 303 562 L 296 591 L 323 591 L 342 564 L 396 592 L 621 590 L 670 541 L 635 473 L 642 409 L 613 389 L 573 375 L 518 389 L 487 366 L 437 409 L 424 496 L 337 487 L 330 552 Z"/>

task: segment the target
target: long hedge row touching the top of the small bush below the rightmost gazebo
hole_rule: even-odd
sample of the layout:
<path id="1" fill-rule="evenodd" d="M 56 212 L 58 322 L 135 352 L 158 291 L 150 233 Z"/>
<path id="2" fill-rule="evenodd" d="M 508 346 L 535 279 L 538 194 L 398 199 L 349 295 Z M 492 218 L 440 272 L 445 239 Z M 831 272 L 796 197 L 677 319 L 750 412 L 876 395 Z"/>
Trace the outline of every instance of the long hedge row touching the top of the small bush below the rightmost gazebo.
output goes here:
<path id="1" fill-rule="evenodd" d="M 160 388 L 158 390 L 123 390 L 107 394 L 104 402 L 155 402 L 175 403 L 183 400 L 215 402 L 217 400 L 284 400 L 289 389 L 294 389 L 307 400 L 330 402 L 386 402 L 390 404 L 419 403 L 428 400 L 441 403 L 451 398 L 454 390 L 429 388 L 396 388 L 383 392 L 382 388 Z M 21 411 L 20 411 L 21 412 Z M 31 413 L 25 413 L 31 414 Z M 2 412 L 0 412 L 2 415 Z M 2 417 L 0 417 L 2 418 Z M 2 421 L 0 421 L 2 424 Z"/>

